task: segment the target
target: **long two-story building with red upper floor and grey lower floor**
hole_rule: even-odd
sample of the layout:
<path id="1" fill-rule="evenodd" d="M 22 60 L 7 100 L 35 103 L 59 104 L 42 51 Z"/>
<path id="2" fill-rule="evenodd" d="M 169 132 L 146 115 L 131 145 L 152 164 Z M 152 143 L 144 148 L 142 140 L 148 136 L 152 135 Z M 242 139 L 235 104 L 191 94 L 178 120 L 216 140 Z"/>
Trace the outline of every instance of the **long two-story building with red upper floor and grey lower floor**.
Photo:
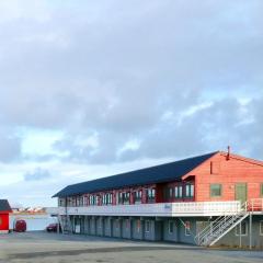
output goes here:
<path id="1" fill-rule="evenodd" d="M 216 151 L 58 192 L 64 231 L 263 247 L 263 162 Z"/>

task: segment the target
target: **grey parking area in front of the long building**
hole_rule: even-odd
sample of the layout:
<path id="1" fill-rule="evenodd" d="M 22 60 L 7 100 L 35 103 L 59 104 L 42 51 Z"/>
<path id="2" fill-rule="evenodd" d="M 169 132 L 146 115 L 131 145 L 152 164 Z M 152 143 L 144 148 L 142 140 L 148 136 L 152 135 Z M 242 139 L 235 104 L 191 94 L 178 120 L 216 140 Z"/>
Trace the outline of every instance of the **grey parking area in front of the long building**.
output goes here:
<path id="1" fill-rule="evenodd" d="M 0 262 L 262 263 L 263 251 L 208 250 L 183 244 L 26 232 L 0 236 Z"/>

